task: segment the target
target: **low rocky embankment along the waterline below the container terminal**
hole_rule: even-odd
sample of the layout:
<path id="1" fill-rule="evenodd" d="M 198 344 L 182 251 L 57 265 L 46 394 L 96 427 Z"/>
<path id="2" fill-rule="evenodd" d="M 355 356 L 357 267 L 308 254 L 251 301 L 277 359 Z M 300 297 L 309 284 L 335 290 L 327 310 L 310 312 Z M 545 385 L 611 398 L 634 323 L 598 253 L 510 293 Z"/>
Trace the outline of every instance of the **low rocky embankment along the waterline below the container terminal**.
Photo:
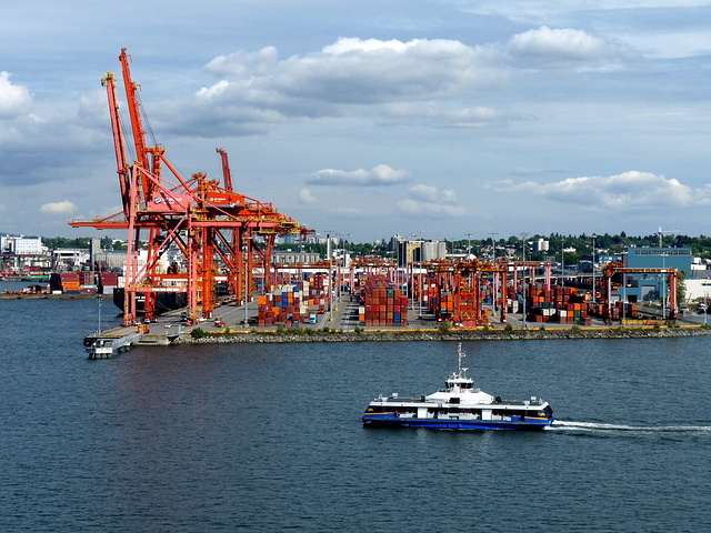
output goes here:
<path id="1" fill-rule="evenodd" d="M 267 343 L 267 342 L 392 342 L 392 341 L 512 341 L 552 339 L 664 339 L 702 336 L 711 334 L 711 328 L 589 328 L 550 330 L 452 330 L 430 331 L 314 331 L 292 332 L 239 332 L 206 333 L 204 336 L 182 334 L 173 344 Z"/>

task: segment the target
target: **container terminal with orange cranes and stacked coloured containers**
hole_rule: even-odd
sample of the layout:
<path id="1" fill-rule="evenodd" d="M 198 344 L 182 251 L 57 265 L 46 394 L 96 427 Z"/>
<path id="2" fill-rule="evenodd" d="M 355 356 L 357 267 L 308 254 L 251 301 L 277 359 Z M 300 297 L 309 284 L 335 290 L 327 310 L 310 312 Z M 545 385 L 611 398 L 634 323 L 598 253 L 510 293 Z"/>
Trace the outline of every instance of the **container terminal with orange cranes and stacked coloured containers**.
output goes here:
<path id="1" fill-rule="evenodd" d="M 331 253 L 336 241 L 329 233 L 324 258 L 281 264 L 274 260 L 277 239 L 304 242 L 313 230 L 280 213 L 271 202 L 239 193 L 223 149 L 216 149 L 220 178 L 179 172 L 167 159 L 166 147 L 148 144 L 146 131 L 150 128 L 126 49 L 119 62 L 121 77 L 108 72 L 101 83 L 122 210 L 70 224 L 126 231 L 122 275 L 52 273 L 49 290 L 66 295 L 113 293 L 127 332 L 137 329 L 146 336 L 158 330 L 160 336 L 169 336 L 166 330 L 173 325 L 184 331 L 590 326 L 597 321 L 610 324 L 637 319 L 642 313 L 635 305 L 618 301 L 621 274 L 654 273 L 675 286 L 673 269 L 620 264 L 605 265 L 587 289 L 564 286 L 562 279 L 552 278 L 550 262 L 495 258 L 495 249 L 491 261 L 469 254 L 423 261 L 420 244 L 417 266 L 413 249 L 407 247 L 404 254 L 398 250 L 397 260 L 359 258 L 347 262 Z M 119 78 L 128 121 L 120 115 Z M 124 134 L 122 124 L 130 135 Z M 134 161 L 129 161 L 129 153 L 136 154 Z M 170 249 L 181 257 L 169 259 Z M 677 319 L 674 290 L 669 294 L 671 320 Z"/>

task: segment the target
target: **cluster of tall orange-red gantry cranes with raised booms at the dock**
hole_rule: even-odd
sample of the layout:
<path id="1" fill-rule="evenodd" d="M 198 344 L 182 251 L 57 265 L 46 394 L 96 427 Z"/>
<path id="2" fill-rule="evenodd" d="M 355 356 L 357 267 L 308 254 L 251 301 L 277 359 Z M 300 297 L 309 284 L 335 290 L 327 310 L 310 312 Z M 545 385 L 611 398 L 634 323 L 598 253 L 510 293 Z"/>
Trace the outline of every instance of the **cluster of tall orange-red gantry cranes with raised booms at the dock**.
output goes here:
<path id="1" fill-rule="evenodd" d="M 74 228 L 124 229 L 128 254 L 124 283 L 124 324 L 137 316 L 137 295 L 144 300 L 146 318 L 157 311 L 159 292 L 187 293 L 188 322 L 210 318 L 216 303 L 216 284 L 228 281 L 238 299 L 249 299 L 254 269 L 261 263 L 266 284 L 274 284 L 271 257 L 278 235 L 306 235 L 311 230 L 263 203 L 234 192 L 227 152 L 222 158 L 224 187 L 204 173 L 183 178 L 159 144 L 148 147 L 126 49 L 119 56 L 131 121 L 136 161 L 128 163 L 127 141 L 121 125 L 116 76 L 107 73 L 111 129 L 123 210 L 93 221 L 73 220 Z M 169 172 L 164 172 L 168 169 Z M 146 261 L 139 264 L 142 235 L 148 241 Z M 177 247 L 184 254 L 187 271 L 160 266 L 166 251 Z M 223 269 L 220 272 L 219 269 Z"/>

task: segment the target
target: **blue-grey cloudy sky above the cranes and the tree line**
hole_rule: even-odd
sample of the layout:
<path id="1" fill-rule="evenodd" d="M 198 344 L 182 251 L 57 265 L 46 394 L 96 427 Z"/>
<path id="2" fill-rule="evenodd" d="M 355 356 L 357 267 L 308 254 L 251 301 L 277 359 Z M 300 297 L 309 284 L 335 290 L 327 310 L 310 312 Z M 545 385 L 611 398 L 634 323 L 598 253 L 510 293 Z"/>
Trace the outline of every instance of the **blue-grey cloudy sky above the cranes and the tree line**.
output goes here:
<path id="1" fill-rule="evenodd" d="M 224 149 L 322 235 L 708 235 L 710 27 L 700 0 L 13 2 L 0 233 L 126 237 L 68 224 L 121 211 L 126 48 L 151 145 L 212 179 Z"/>

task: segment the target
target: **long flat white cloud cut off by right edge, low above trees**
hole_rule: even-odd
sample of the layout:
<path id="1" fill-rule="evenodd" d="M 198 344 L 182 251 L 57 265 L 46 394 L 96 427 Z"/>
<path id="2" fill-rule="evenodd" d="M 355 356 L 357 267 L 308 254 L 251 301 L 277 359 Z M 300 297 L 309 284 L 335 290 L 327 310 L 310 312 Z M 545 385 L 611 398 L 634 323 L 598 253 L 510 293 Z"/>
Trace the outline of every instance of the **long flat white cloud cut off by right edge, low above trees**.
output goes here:
<path id="1" fill-rule="evenodd" d="M 569 178 L 555 183 L 527 182 L 520 190 L 562 203 L 611 211 L 640 211 L 711 204 L 711 187 L 693 190 L 675 179 L 629 171 L 610 177 Z"/>

